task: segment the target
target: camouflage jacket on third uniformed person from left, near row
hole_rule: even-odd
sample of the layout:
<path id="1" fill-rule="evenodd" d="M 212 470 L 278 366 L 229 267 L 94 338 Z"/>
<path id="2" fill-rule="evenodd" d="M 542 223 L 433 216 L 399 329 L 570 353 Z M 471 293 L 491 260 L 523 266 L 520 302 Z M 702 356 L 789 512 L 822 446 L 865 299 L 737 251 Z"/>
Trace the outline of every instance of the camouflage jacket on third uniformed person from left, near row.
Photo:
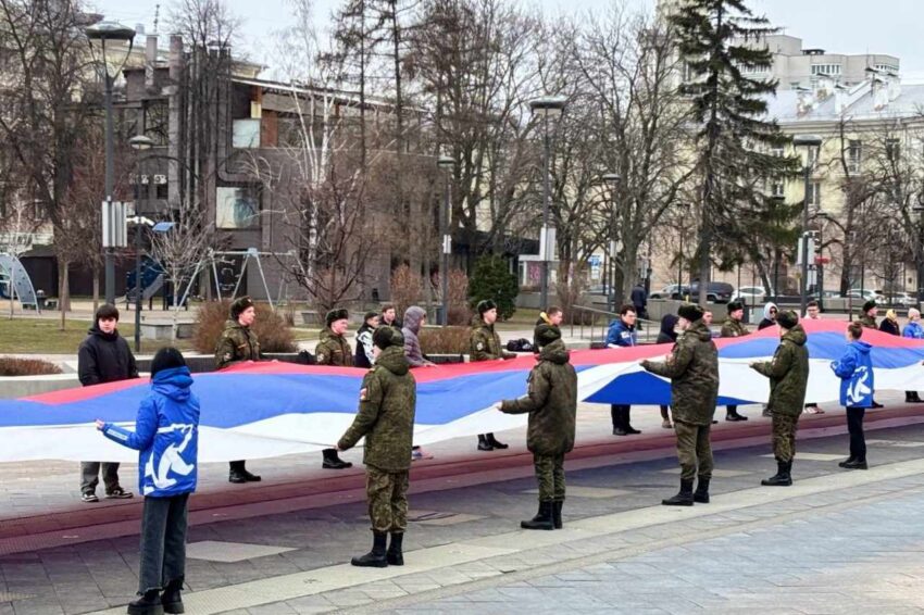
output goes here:
<path id="1" fill-rule="evenodd" d="M 671 413 L 689 425 L 710 425 L 719 397 L 719 351 L 709 327 L 697 321 L 680 334 L 664 363 L 642 361 L 641 366 L 671 378 Z"/>

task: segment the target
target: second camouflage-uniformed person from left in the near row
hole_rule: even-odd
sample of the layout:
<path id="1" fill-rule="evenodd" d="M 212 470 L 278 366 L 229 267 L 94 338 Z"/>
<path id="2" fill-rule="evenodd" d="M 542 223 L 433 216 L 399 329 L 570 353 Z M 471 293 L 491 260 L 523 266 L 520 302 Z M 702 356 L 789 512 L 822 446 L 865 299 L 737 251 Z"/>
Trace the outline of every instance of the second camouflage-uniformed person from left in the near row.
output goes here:
<path id="1" fill-rule="evenodd" d="M 529 413 L 526 448 L 533 453 L 539 482 L 539 512 L 523 529 L 561 529 L 564 505 L 564 455 L 574 448 L 577 374 L 554 325 L 536 327 L 539 362 L 529 372 L 526 397 L 498 404 L 508 414 Z"/>

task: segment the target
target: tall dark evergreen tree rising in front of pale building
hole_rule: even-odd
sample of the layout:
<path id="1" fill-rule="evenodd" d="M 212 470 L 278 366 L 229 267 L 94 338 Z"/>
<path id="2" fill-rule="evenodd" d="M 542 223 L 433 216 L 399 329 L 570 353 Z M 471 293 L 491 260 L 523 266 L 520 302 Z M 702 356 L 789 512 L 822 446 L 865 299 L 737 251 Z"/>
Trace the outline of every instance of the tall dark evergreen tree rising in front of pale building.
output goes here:
<path id="1" fill-rule="evenodd" d="M 762 39 L 777 29 L 754 16 L 745 0 L 686 0 L 670 21 L 698 123 L 699 301 L 704 302 L 713 256 L 720 265 L 739 258 L 741 247 L 754 241 L 754 229 L 770 227 L 754 222 L 773 221 L 778 228 L 781 208 L 766 193 L 766 183 L 796 173 L 798 161 L 774 154 L 789 141 L 766 117 L 776 81 L 748 76 L 772 65 Z"/>

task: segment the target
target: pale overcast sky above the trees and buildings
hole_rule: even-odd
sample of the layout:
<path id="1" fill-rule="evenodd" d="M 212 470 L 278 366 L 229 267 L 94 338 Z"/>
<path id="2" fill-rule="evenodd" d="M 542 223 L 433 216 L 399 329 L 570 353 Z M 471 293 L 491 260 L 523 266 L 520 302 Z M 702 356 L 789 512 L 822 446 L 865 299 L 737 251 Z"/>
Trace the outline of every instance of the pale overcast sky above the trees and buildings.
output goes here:
<path id="1" fill-rule="evenodd" d="M 91 0 L 100 12 L 125 25 L 145 24 L 150 30 L 158 0 Z M 604 10 L 612 0 L 532 0 L 550 14 L 580 14 Z M 653 10 L 654 0 L 626 0 Z M 170 0 L 161 2 L 161 24 Z M 316 14 L 324 18 L 340 0 L 317 0 Z M 272 64 L 260 41 L 286 26 L 287 0 L 227 0 L 244 22 L 244 36 L 251 59 Z M 901 60 L 904 78 L 924 81 L 924 23 L 922 0 L 751 0 L 756 13 L 763 13 L 786 34 L 802 38 L 809 48 L 838 53 L 888 53 Z M 164 32 L 164 27 L 161 32 Z"/>

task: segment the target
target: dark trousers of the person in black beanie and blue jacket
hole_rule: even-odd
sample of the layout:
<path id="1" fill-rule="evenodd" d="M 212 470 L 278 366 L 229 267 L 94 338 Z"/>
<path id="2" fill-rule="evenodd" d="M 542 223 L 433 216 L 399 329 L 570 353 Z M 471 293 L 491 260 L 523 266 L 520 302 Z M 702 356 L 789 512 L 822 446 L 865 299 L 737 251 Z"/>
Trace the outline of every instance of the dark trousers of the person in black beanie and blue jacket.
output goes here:
<path id="1" fill-rule="evenodd" d="M 138 593 L 162 589 L 186 576 L 186 512 L 189 493 L 145 498 Z"/>

